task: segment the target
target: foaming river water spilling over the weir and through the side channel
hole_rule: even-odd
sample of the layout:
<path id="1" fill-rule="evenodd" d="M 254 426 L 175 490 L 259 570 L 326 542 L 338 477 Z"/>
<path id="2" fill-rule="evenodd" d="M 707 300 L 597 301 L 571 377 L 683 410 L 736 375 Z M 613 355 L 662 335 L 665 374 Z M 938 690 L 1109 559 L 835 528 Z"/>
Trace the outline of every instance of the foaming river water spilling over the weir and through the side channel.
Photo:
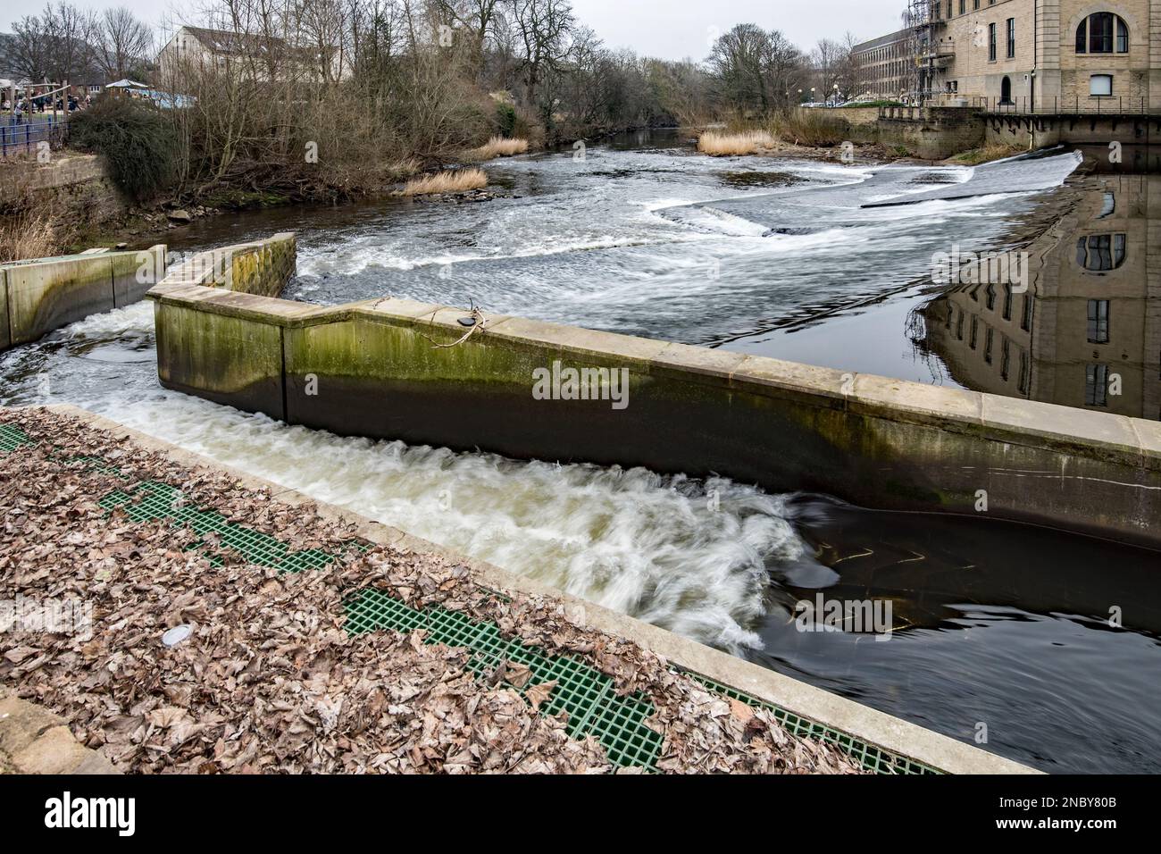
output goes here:
<path id="1" fill-rule="evenodd" d="M 717 160 L 677 134 L 643 135 L 583 160 L 489 164 L 510 199 L 228 215 L 173 231 L 171 244 L 294 230 L 291 299 L 475 301 L 972 385 L 917 337 L 915 282 L 951 243 L 1007 245 L 1075 165 L 1066 153 L 990 170 Z M 987 749 L 1047 770 L 1161 767 L 1153 553 L 726 480 L 287 426 L 160 388 L 146 303 L 0 357 L 0 403 L 59 402 L 952 737 L 974 740 L 986 724 Z M 889 602 L 889 643 L 799 631 L 796 602 L 820 591 Z M 1110 627 L 1112 607 L 1125 629 Z"/>

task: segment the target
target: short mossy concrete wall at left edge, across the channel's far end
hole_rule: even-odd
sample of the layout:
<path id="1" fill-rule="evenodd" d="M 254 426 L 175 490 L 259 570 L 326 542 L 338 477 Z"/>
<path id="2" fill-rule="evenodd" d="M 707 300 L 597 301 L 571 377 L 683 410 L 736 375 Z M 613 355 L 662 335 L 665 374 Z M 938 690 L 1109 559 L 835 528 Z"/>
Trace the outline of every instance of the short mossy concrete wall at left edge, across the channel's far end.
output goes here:
<path id="1" fill-rule="evenodd" d="M 15 261 L 0 266 L 0 349 L 26 344 L 91 314 L 123 308 L 153 287 L 165 246 Z"/>

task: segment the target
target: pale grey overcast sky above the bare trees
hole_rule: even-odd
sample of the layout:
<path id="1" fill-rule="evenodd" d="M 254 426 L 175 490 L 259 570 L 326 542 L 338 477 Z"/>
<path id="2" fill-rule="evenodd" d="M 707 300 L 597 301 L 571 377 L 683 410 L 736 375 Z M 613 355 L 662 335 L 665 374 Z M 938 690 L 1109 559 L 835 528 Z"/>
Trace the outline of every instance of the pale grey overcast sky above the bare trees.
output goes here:
<path id="1" fill-rule="evenodd" d="M 172 0 L 73 0 L 82 8 L 128 6 L 143 20 L 158 24 L 173 9 L 199 3 Z M 572 0 L 577 17 L 611 48 L 664 59 L 704 59 L 714 34 L 736 23 L 752 22 L 780 29 L 800 48 L 820 38 L 841 38 L 850 30 L 859 41 L 886 35 L 900 27 L 904 0 Z M 0 29 L 36 9 L 39 0 L 0 0 Z M 180 13 L 179 13 L 180 14 Z"/>

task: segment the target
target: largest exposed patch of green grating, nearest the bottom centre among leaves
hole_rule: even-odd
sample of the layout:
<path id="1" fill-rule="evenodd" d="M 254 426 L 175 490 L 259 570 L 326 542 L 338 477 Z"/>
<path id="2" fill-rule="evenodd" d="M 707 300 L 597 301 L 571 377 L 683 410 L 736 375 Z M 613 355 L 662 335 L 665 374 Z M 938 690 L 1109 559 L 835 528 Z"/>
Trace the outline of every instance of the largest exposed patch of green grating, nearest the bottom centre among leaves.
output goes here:
<path id="1" fill-rule="evenodd" d="M 662 735 L 646 719 L 652 703 L 644 695 L 619 697 L 613 680 L 569 655 L 546 655 L 519 639 L 506 639 L 495 623 L 476 623 L 460 611 L 439 605 L 417 611 L 383 590 L 365 589 L 345 602 L 348 634 L 376 630 L 426 630 L 425 644 L 446 644 L 470 651 L 468 669 L 477 677 L 496 672 L 504 661 L 526 666 L 532 679 L 522 689 L 556 681 L 542 715 L 565 712 L 565 730 L 572 738 L 592 735 L 604 746 L 610 762 L 656 770 Z"/>

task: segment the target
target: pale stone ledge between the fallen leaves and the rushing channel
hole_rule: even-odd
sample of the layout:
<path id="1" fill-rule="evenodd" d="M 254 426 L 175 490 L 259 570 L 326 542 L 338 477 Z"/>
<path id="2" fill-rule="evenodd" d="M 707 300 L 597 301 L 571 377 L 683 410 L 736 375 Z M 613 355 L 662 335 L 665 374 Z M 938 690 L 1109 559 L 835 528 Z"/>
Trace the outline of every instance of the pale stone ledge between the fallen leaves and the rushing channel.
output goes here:
<path id="1" fill-rule="evenodd" d="M 128 437 L 145 448 L 164 453 L 170 459 L 183 466 L 228 472 L 232 479 L 236 479 L 246 488 L 268 489 L 272 496 L 282 503 L 313 504 L 318 508 L 318 512 L 323 517 L 351 522 L 358 528 L 360 536 L 374 543 L 395 544 L 416 552 L 434 552 L 447 555 L 457 564 L 467 566 L 473 572 L 477 582 L 489 589 L 522 591 L 555 597 L 568 609 L 570 616 L 577 618 L 584 625 L 607 634 L 633 640 L 685 670 L 707 676 L 716 682 L 779 705 L 795 715 L 841 730 L 885 751 L 909 756 L 952 774 L 1039 773 L 1018 762 L 987 753 L 885 712 L 870 709 L 868 706 L 860 705 L 820 688 L 814 688 L 788 676 L 783 676 L 773 670 L 767 670 L 758 665 L 702 646 L 664 629 L 658 629 L 633 617 L 627 617 L 622 613 L 578 600 L 531 579 L 509 573 L 491 564 L 464 558 L 433 543 L 412 537 L 398 529 L 382 525 L 331 504 L 317 502 L 294 489 L 288 489 L 277 483 L 251 476 L 229 466 L 223 466 L 84 409 L 67 404 L 48 408 L 52 411 L 79 418 L 95 428 L 107 430 L 118 438 Z"/>

